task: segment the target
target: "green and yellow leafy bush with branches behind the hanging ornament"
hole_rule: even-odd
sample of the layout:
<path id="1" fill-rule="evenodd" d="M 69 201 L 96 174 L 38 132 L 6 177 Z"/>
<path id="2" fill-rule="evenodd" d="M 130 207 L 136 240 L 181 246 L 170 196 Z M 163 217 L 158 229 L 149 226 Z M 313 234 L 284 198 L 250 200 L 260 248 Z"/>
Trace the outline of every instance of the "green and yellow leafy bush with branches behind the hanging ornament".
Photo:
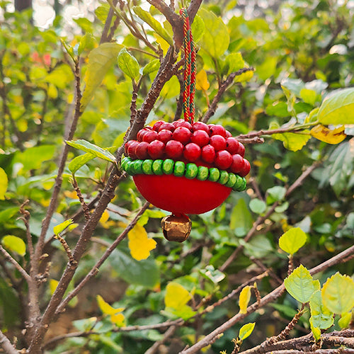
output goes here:
<path id="1" fill-rule="evenodd" d="M 354 9 L 201 2 L 184 4 L 196 116 L 245 143 L 251 173 L 183 244 L 120 169 L 139 128 L 181 115 L 173 1 L 103 1 L 72 33 L 1 2 L 5 353 L 353 348 Z"/>

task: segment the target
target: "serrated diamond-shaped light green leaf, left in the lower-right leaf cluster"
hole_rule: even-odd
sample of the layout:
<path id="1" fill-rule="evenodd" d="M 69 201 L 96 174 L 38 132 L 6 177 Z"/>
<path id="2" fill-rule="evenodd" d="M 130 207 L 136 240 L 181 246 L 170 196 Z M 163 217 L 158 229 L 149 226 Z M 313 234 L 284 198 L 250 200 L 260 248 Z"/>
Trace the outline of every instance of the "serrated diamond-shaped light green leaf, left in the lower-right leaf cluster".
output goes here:
<path id="1" fill-rule="evenodd" d="M 302 264 L 293 270 L 284 284 L 287 292 L 302 303 L 309 302 L 312 294 L 320 289 L 319 280 L 313 280 L 309 270 Z"/>

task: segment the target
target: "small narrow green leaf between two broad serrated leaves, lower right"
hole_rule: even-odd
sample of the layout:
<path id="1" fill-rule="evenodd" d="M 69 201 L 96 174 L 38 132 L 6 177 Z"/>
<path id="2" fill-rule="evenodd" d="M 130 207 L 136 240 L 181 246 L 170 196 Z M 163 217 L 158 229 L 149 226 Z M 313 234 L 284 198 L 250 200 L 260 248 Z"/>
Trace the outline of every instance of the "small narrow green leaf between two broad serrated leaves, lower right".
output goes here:
<path id="1" fill-rule="evenodd" d="M 334 322 L 333 312 L 324 306 L 321 290 L 314 292 L 310 298 L 309 306 L 311 310 L 310 324 L 319 329 L 329 329 Z"/>

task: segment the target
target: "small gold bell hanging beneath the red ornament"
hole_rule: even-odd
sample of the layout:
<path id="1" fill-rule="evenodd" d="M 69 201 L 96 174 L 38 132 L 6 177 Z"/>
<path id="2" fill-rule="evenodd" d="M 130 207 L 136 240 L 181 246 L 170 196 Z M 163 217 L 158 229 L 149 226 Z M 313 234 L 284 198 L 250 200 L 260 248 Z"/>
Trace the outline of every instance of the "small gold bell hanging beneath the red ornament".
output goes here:
<path id="1" fill-rule="evenodd" d="M 183 242 L 188 239 L 192 222 L 186 215 L 169 215 L 161 220 L 162 232 L 168 241 Z"/>

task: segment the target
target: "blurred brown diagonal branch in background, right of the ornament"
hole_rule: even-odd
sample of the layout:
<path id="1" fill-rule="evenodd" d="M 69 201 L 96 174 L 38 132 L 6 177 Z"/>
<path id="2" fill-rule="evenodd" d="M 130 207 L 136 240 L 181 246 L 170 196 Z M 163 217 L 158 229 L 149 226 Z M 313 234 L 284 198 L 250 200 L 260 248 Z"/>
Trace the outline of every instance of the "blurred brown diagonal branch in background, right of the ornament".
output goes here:
<path id="1" fill-rule="evenodd" d="M 292 193 L 296 188 L 298 188 L 300 185 L 302 185 L 302 183 L 304 182 L 304 180 L 312 173 L 312 171 L 314 171 L 314 169 L 316 169 L 316 167 L 319 166 L 318 163 L 313 164 L 312 166 L 309 166 L 300 176 L 299 178 L 297 178 L 297 180 L 292 183 L 292 185 L 290 185 L 289 188 L 287 188 L 287 191 L 285 192 L 285 198 L 287 198 L 290 193 Z M 268 219 L 268 217 L 270 217 L 270 215 L 273 214 L 274 210 L 276 207 L 278 207 L 279 202 L 275 202 L 270 209 L 268 210 L 268 212 L 265 213 L 264 216 L 259 216 L 258 219 L 256 219 L 256 222 L 253 223 L 253 226 L 251 227 L 251 229 L 249 230 L 249 232 L 246 234 L 244 241 L 248 242 L 253 235 L 255 234 L 258 225 L 263 224 L 263 222 L 265 221 L 265 219 Z M 220 266 L 219 270 L 220 271 L 224 271 L 235 259 L 236 257 L 239 255 L 239 253 L 244 249 L 244 246 L 240 245 L 238 246 L 234 252 L 232 252 L 232 254 L 229 256 L 229 258 L 227 258 L 227 260 Z"/>

